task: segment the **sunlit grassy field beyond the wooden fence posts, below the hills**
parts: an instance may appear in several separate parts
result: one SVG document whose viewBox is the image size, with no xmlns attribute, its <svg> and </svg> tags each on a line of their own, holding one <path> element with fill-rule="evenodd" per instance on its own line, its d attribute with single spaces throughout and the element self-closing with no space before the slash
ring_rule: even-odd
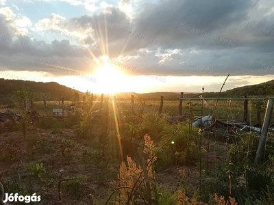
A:
<svg viewBox="0 0 274 205">
<path fill-rule="evenodd" d="M 145 102 L 145 105 L 143 106 L 145 108 L 145 111 L 151 111 L 153 113 L 156 113 L 159 110 L 160 107 L 160 100 L 143 100 Z M 189 115 L 189 100 L 183 101 L 183 115 Z M 203 105 L 203 115 L 212 114 L 212 110 L 214 108 L 214 102 L 207 100 L 206 103 Z M 71 104 L 71 101 L 64 101 L 64 107 L 67 107 L 69 104 Z M 111 103 L 111 100 L 110 100 Z M 117 98 L 116 100 L 118 111 L 122 111 L 124 109 L 131 109 L 131 100 L 123 100 L 122 98 Z M 202 102 L 201 100 L 192 100 L 192 103 L 197 103 L 197 106 L 195 106 L 195 111 L 193 115 L 201 115 L 201 108 L 202 108 Z M 162 109 L 162 113 L 169 113 L 171 116 L 179 115 L 179 100 L 164 100 L 164 107 Z M 47 109 L 44 109 L 44 105 L 42 101 L 35 102 L 34 104 L 35 109 L 41 114 L 41 115 L 52 115 L 52 109 L 54 108 L 61 108 L 61 105 L 59 105 L 58 101 L 48 101 L 47 102 Z M 138 101 L 138 99 L 135 99 L 135 106 L 134 109 L 140 109 L 142 107 L 141 102 Z M 94 100 L 92 110 L 96 110 L 100 108 L 100 100 Z M 256 124 L 256 110 L 252 109 L 251 103 L 249 102 L 248 106 L 248 119 L 252 124 Z M 0 111 L 3 111 L 3 109 L 0 109 Z M 243 100 L 232 100 L 232 102 L 229 102 L 227 100 L 219 100 L 217 108 L 216 108 L 216 118 L 219 119 L 227 119 L 227 120 L 243 120 Z M 263 120 L 264 113 L 261 113 L 261 119 Z M 272 116 L 272 120 L 274 121 L 274 115 Z"/>
</svg>

